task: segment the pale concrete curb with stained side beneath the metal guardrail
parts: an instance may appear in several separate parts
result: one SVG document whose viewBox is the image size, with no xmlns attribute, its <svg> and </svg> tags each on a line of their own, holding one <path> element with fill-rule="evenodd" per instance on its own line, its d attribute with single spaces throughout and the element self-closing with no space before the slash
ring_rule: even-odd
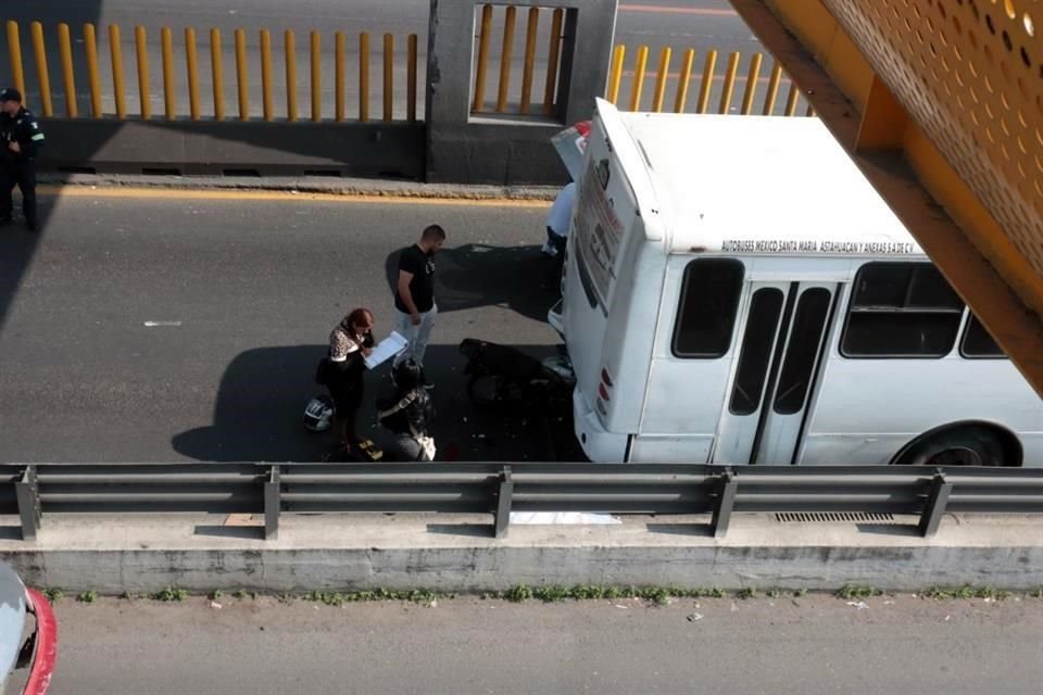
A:
<svg viewBox="0 0 1043 695">
<path fill-rule="evenodd" d="M 675 585 L 833 591 L 1043 586 L 1039 518 L 947 515 L 939 534 L 910 526 L 780 523 L 740 515 L 728 538 L 702 517 L 625 517 L 618 526 L 515 525 L 490 538 L 487 516 L 284 515 L 279 539 L 257 520 L 138 515 L 52 516 L 34 543 L 0 540 L 30 584 L 67 592 L 503 591 L 518 584 Z"/>
</svg>

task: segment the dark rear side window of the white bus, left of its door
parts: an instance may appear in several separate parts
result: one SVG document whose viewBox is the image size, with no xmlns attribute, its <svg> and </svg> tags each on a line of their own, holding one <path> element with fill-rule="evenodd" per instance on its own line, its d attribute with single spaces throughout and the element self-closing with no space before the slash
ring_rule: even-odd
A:
<svg viewBox="0 0 1043 695">
<path fill-rule="evenodd" d="M 731 346 L 744 268 L 734 258 L 700 258 L 684 268 L 674 327 L 675 357 L 722 357 Z"/>
</svg>

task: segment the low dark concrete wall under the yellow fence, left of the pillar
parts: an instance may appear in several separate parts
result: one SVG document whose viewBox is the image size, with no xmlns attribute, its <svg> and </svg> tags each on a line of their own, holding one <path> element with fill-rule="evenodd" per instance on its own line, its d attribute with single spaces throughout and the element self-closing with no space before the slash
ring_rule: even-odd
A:
<svg viewBox="0 0 1043 695">
<path fill-rule="evenodd" d="M 424 179 L 424 124 L 48 119 L 42 170 Z"/>
</svg>

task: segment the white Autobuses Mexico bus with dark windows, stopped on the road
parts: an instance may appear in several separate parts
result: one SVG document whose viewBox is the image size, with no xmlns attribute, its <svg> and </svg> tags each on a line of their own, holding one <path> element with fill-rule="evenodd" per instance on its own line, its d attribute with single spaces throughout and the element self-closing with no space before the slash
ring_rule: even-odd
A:
<svg viewBox="0 0 1043 695">
<path fill-rule="evenodd" d="M 595 462 L 1043 463 L 1043 401 L 817 118 L 598 101 L 549 315 Z"/>
</svg>

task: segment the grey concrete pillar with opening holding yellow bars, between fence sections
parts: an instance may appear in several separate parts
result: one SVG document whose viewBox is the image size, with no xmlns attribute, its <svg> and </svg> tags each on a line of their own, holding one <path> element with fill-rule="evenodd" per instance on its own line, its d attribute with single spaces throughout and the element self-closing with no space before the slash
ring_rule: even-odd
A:
<svg viewBox="0 0 1043 695">
<path fill-rule="evenodd" d="M 548 140 L 562 127 L 589 118 L 594 98 L 604 94 L 617 0 L 512 0 L 519 17 L 528 7 L 566 9 L 558 112 L 550 118 L 470 115 L 475 8 L 481 4 L 431 0 L 427 178 L 457 184 L 564 182 L 567 174 Z"/>
</svg>

